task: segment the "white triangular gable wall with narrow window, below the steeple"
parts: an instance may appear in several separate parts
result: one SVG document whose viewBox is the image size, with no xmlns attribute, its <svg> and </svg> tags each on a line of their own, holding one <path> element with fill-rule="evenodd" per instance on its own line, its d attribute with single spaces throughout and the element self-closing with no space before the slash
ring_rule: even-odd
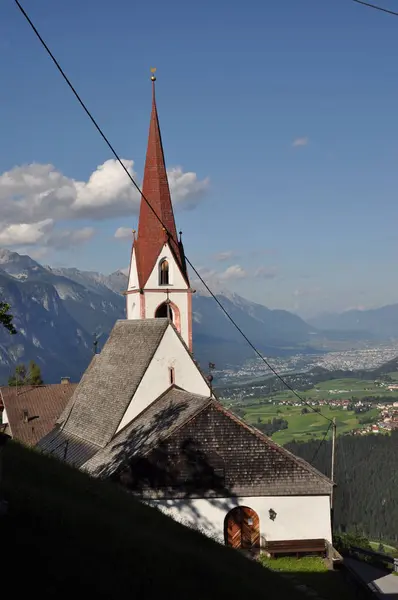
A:
<svg viewBox="0 0 398 600">
<path fill-rule="evenodd" d="M 170 387 L 170 367 L 174 368 L 176 385 L 194 394 L 210 395 L 207 382 L 182 345 L 173 327 L 169 325 L 117 431 L 128 425 L 132 419 Z"/>
</svg>

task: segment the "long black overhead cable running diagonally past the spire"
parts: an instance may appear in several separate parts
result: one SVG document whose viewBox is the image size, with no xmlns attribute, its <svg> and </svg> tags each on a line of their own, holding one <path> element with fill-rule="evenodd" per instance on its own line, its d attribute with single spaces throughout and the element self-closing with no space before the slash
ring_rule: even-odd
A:
<svg viewBox="0 0 398 600">
<path fill-rule="evenodd" d="M 104 134 L 104 132 L 102 131 L 101 127 L 98 125 L 97 121 L 95 120 L 95 118 L 93 117 L 93 115 L 91 114 L 91 112 L 89 111 L 89 109 L 87 108 L 86 104 L 83 102 L 83 100 L 79 96 L 79 94 L 76 91 L 75 87 L 71 83 L 71 81 L 68 78 L 68 76 L 66 75 L 65 71 L 62 69 L 61 65 L 59 64 L 59 62 L 55 58 L 54 54 L 51 52 L 50 48 L 48 47 L 48 45 L 44 41 L 43 37 L 40 35 L 39 31 L 37 30 L 36 26 L 32 22 L 32 20 L 29 17 L 29 15 L 27 14 L 26 10 L 23 8 L 23 6 L 19 2 L 19 0 L 15 0 L 15 4 L 18 6 L 19 10 L 21 11 L 21 13 L 23 14 L 23 16 L 25 17 L 25 19 L 29 23 L 29 25 L 32 28 L 32 30 L 34 31 L 36 37 L 38 38 L 38 40 L 42 44 L 43 48 L 46 50 L 47 54 L 50 56 L 51 60 L 53 61 L 53 63 L 57 67 L 58 71 L 62 75 L 63 79 L 65 80 L 66 84 L 68 85 L 68 87 L 72 91 L 72 93 L 75 96 L 75 98 L 77 99 L 77 101 L 79 102 L 80 106 L 83 108 L 84 112 L 86 113 L 86 115 L 88 116 L 88 118 L 90 119 L 90 121 L 92 122 L 92 124 L 94 125 L 95 129 L 98 131 L 98 133 L 100 134 L 100 136 L 104 140 L 105 144 L 108 146 L 109 150 L 112 152 L 113 156 L 115 157 L 115 159 L 117 160 L 117 162 L 120 164 L 120 166 L 122 167 L 123 171 L 126 173 L 127 177 L 130 179 L 131 183 L 134 185 L 134 187 L 136 188 L 136 190 L 141 195 L 142 200 L 144 200 L 144 202 L 148 205 L 149 209 L 153 212 L 153 214 L 155 215 L 156 219 L 159 221 L 159 223 L 165 229 L 165 231 L 168 234 L 169 238 L 172 239 L 176 244 L 178 244 L 178 240 L 174 239 L 172 233 L 164 225 L 162 219 L 159 217 L 159 215 L 157 214 L 157 212 L 155 211 L 155 209 L 153 208 L 153 206 L 151 205 L 151 203 L 149 202 L 149 200 L 142 193 L 142 191 L 140 189 L 140 186 L 135 181 L 134 177 L 131 175 L 131 173 L 129 172 L 129 170 L 123 164 L 123 162 L 120 159 L 118 153 L 116 152 L 116 150 L 114 149 L 114 147 L 112 146 L 112 144 L 110 143 L 110 141 L 108 140 L 108 138 L 106 137 L 106 135 Z M 226 310 L 226 308 L 224 308 L 224 306 L 222 305 L 222 303 L 219 301 L 219 299 L 217 298 L 217 296 L 211 291 L 210 287 L 204 281 L 203 277 L 200 275 L 200 273 L 197 271 L 197 269 L 194 267 L 194 265 L 191 263 L 191 261 L 188 259 L 188 257 L 185 257 L 185 260 L 186 260 L 187 264 L 191 267 L 191 269 L 193 270 L 193 272 L 195 273 L 195 275 L 198 277 L 199 281 L 202 283 L 202 285 L 205 287 L 205 289 L 209 292 L 210 296 L 218 304 L 219 308 L 222 310 L 222 312 L 225 314 L 225 316 L 228 318 L 228 320 L 232 323 L 232 325 L 240 333 L 240 335 L 247 342 L 247 344 L 250 346 L 250 348 L 255 352 L 255 354 L 257 354 L 257 356 L 264 362 L 264 364 L 268 367 L 268 369 L 271 371 L 271 373 L 273 373 L 275 375 L 275 377 L 277 377 L 277 379 L 281 383 L 283 383 L 283 385 L 288 390 L 290 390 L 292 392 L 292 394 L 294 394 L 296 396 L 296 398 L 298 400 L 300 400 L 300 402 L 302 404 L 305 404 L 312 411 L 316 412 L 317 414 L 320 414 L 327 421 L 332 422 L 332 420 L 329 419 L 329 417 L 326 417 L 322 413 L 318 413 L 318 411 L 316 411 L 316 409 L 311 404 L 309 404 L 306 400 L 304 400 L 304 398 L 302 398 L 300 396 L 300 394 L 298 392 L 296 392 L 296 390 L 281 375 L 279 375 L 279 373 L 276 371 L 276 369 L 268 362 L 268 360 L 261 354 L 261 352 L 256 348 L 256 346 L 250 341 L 250 339 L 247 337 L 247 335 L 244 333 L 244 331 L 239 327 L 239 325 L 236 323 L 236 321 L 233 319 L 233 317 L 231 317 L 231 315 Z"/>
</svg>

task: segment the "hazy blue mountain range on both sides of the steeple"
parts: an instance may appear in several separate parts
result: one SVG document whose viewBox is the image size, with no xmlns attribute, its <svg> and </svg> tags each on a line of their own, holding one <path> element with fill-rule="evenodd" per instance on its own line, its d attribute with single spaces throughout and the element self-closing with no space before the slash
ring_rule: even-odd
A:
<svg viewBox="0 0 398 600">
<path fill-rule="evenodd" d="M 101 348 L 115 321 L 125 318 L 121 292 L 126 286 L 122 271 L 103 275 L 53 268 L 29 256 L 0 250 L 1 299 L 11 305 L 18 331 L 11 336 L 0 329 L 0 383 L 16 364 L 31 359 L 39 363 L 46 382 L 64 376 L 78 380 L 91 359 L 94 336 Z M 307 323 L 293 313 L 271 310 L 228 290 L 215 288 L 214 292 L 245 335 L 267 356 L 313 352 L 318 342 L 324 349 L 325 338 L 398 338 L 398 305 L 325 315 Z M 220 369 L 236 367 L 255 357 L 214 299 L 199 286 L 193 296 L 193 344 L 195 358 L 203 367 L 209 361 Z"/>
</svg>

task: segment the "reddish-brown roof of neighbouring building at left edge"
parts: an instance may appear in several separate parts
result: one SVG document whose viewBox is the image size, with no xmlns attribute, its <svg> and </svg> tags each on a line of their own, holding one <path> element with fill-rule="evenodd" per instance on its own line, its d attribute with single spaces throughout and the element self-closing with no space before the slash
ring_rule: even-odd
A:
<svg viewBox="0 0 398 600">
<path fill-rule="evenodd" d="M 57 383 L 0 388 L 8 419 L 7 432 L 23 444 L 35 445 L 53 429 L 76 386 Z"/>
</svg>

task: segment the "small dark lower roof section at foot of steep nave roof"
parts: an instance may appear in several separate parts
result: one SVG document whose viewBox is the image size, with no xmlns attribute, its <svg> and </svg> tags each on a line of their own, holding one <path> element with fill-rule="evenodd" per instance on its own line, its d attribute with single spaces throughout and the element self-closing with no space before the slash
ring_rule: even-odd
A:
<svg viewBox="0 0 398 600">
<path fill-rule="evenodd" d="M 80 468 L 100 450 L 99 446 L 65 433 L 59 428 L 50 431 L 36 447 L 76 468 Z"/>
</svg>

